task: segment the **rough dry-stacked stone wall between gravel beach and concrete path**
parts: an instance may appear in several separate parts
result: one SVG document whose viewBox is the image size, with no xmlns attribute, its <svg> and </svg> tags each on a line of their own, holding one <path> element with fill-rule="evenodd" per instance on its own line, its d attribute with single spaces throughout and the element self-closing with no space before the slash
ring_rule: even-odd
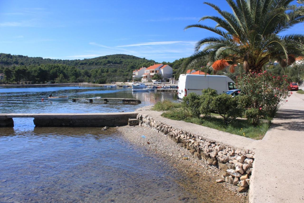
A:
<svg viewBox="0 0 304 203">
<path fill-rule="evenodd" d="M 249 189 L 255 158 L 254 151 L 233 148 L 227 144 L 206 139 L 199 134 L 173 127 L 140 112 L 137 119 L 140 126 L 163 133 L 179 146 L 188 149 L 197 159 L 221 169 L 223 171 L 221 179 L 216 180 L 216 182 L 237 185 L 239 192 L 246 192 Z"/>
</svg>

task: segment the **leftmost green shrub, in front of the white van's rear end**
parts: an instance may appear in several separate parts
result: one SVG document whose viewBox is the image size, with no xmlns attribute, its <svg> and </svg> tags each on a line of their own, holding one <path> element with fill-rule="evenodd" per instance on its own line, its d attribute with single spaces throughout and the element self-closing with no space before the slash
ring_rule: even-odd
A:
<svg viewBox="0 0 304 203">
<path fill-rule="evenodd" d="M 183 98 L 182 108 L 188 111 L 193 117 L 199 118 L 201 115 L 200 106 L 201 97 L 194 92 L 189 93 Z"/>
</svg>

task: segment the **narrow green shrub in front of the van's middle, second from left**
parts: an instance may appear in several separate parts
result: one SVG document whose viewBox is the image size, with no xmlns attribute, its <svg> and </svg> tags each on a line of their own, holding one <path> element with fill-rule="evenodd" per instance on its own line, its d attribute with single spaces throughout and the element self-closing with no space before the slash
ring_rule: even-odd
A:
<svg viewBox="0 0 304 203">
<path fill-rule="evenodd" d="M 202 90 L 202 96 L 201 96 L 201 106 L 199 108 L 200 113 L 206 117 L 209 116 L 209 119 L 211 118 L 211 112 L 213 111 L 211 108 L 211 102 L 214 99 L 214 97 L 217 95 L 217 91 L 211 88 Z"/>
</svg>

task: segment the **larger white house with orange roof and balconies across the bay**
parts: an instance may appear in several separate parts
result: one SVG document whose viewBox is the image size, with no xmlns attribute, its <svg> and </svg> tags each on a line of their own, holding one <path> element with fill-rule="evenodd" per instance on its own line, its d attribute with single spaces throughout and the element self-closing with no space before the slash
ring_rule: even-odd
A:
<svg viewBox="0 0 304 203">
<path fill-rule="evenodd" d="M 172 73 L 173 69 L 169 65 L 154 64 L 145 69 L 145 73 L 141 76 L 141 81 L 147 82 L 154 74 L 160 74 L 163 80 L 167 80 L 168 78 L 171 78 Z"/>
</svg>

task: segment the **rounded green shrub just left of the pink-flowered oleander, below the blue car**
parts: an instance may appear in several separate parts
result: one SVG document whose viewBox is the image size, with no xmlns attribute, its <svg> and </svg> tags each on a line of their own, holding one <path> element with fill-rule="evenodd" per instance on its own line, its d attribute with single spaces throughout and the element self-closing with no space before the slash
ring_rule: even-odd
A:
<svg viewBox="0 0 304 203">
<path fill-rule="evenodd" d="M 238 105 L 237 98 L 228 94 L 217 95 L 210 106 L 223 117 L 226 124 L 242 115 L 242 108 Z"/>
</svg>

